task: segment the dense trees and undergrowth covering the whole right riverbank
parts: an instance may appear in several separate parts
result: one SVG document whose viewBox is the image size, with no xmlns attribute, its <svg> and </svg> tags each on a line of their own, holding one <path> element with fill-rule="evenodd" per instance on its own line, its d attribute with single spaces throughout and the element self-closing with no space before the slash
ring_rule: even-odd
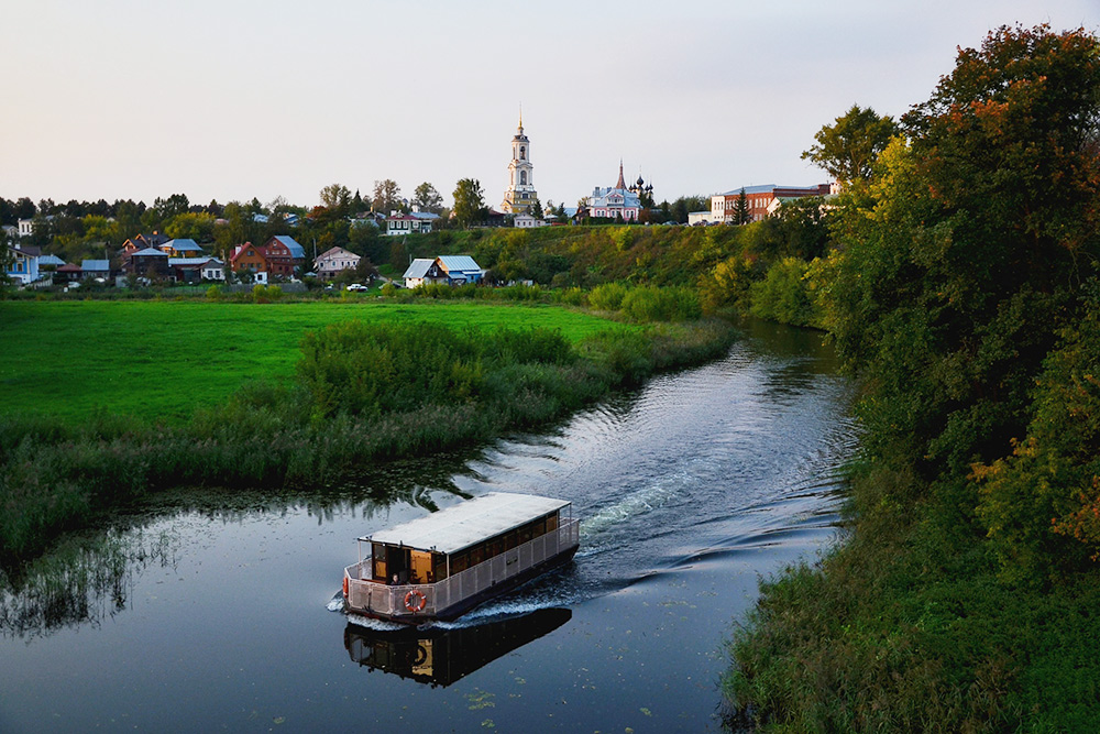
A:
<svg viewBox="0 0 1100 734">
<path fill-rule="evenodd" d="M 849 532 L 761 584 L 726 725 L 1100 731 L 1100 41 L 1002 28 L 865 112 L 810 152 L 849 176 L 806 275 L 860 380 Z"/>
</svg>

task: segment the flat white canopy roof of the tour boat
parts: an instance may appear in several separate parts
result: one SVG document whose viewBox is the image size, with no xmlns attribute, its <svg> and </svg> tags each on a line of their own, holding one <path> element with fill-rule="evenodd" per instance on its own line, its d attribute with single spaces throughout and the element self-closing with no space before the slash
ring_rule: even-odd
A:
<svg viewBox="0 0 1100 734">
<path fill-rule="evenodd" d="M 536 494 L 490 492 L 360 540 L 453 554 L 569 505 Z"/>
</svg>

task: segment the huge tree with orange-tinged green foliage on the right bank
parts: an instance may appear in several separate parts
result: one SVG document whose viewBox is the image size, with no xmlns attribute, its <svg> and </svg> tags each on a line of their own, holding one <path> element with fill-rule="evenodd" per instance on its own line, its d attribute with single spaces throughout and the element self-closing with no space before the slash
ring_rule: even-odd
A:
<svg viewBox="0 0 1100 734">
<path fill-rule="evenodd" d="M 1050 552 L 1053 534 L 1076 534 L 1072 503 L 1097 501 L 1060 479 L 1079 472 L 1041 465 L 1025 442 L 1066 459 L 1036 421 L 1063 399 L 1048 375 L 1059 342 L 1070 364 L 1091 359 L 1075 350 L 1096 353 L 1080 329 L 1096 322 L 1085 316 L 1100 287 L 1098 120 L 1100 41 L 1045 25 L 990 33 L 902 118 L 908 140 L 879 154 L 871 206 L 850 196 L 829 213 L 843 247 L 811 276 L 838 353 L 873 385 L 866 447 L 954 483 L 1002 563 L 1032 579 L 1074 556 Z"/>
</svg>

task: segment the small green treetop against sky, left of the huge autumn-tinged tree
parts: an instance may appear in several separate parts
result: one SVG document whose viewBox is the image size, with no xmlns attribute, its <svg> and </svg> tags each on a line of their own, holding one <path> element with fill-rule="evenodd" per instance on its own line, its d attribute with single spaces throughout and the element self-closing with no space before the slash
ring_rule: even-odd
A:
<svg viewBox="0 0 1100 734">
<path fill-rule="evenodd" d="M 853 105 L 834 124 L 825 125 L 814 135 L 817 144 L 804 151 L 802 160 L 813 161 L 840 184 L 866 182 L 879 153 L 895 134 L 898 124 L 893 118 Z"/>
</svg>

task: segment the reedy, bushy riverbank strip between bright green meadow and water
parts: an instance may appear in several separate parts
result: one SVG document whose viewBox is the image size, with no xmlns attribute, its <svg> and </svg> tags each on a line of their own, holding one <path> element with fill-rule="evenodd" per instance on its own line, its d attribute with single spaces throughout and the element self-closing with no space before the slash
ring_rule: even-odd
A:
<svg viewBox="0 0 1100 734">
<path fill-rule="evenodd" d="M 55 306 L 79 314 L 81 305 Z M 128 304 L 90 307 L 101 306 L 110 311 Z M 328 305 L 307 314 L 296 310 L 305 306 L 310 305 L 253 311 L 241 306 L 231 316 L 280 320 L 284 330 L 289 324 L 300 329 L 301 319 L 318 314 L 339 320 L 324 311 Z M 207 317 L 223 307 L 193 306 Z M 0 418 L 3 559 L 38 552 L 58 534 L 164 487 L 309 490 L 344 481 L 380 460 L 425 456 L 540 425 L 661 370 L 712 359 L 734 338 L 733 327 L 723 321 L 624 328 L 560 308 L 459 304 L 343 315 L 364 313 L 386 318 L 330 324 L 305 339 L 301 352 L 284 346 L 284 362 L 288 353 L 301 355 L 295 380 L 280 381 L 276 372 L 246 382 L 228 403 L 176 425 L 144 424 L 111 412 L 80 425 L 25 414 Z M 505 327 L 505 313 L 524 318 Z M 517 322 L 527 328 L 515 328 Z M 572 338 L 562 324 L 571 327 Z M 117 351 L 125 352 L 128 343 L 131 353 L 142 349 L 146 330 L 129 333 L 129 340 L 116 342 Z M 194 336 L 172 340 L 177 351 L 188 350 L 193 364 L 224 348 L 218 340 L 201 340 L 201 332 Z M 142 358 L 143 370 L 156 369 L 150 360 L 154 355 Z M 187 393 L 187 375 L 175 374 L 172 361 L 157 365 L 162 381 L 178 382 L 176 390 Z M 144 382 L 132 380 L 128 387 L 140 392 Z"/>
</svg>

